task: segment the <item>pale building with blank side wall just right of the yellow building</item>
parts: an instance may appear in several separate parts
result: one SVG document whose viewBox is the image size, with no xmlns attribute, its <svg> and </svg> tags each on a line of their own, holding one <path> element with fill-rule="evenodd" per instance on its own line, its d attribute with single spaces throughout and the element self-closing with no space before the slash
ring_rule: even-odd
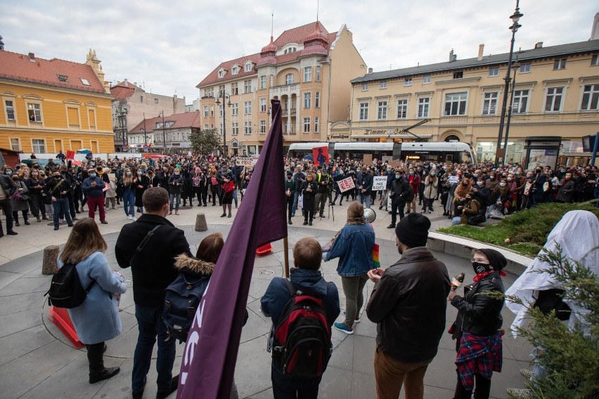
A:
<svg viewBox="0 0 599 399">
<path fill-rule="evenodd" d="M 157 115 L 182 114 L 186 112 L 185 97 L 162 96 L 146 93 L 144 89 L 127 79 L 110 88 L 114 96 L 112 100 L 112 131 L 115 132 L 115 151 L 121 152 L 129 148 L 130 140 L 127 132 L 143 118 Z M 136 143 L 134 141 L 133 143 Z"/>
</svg>

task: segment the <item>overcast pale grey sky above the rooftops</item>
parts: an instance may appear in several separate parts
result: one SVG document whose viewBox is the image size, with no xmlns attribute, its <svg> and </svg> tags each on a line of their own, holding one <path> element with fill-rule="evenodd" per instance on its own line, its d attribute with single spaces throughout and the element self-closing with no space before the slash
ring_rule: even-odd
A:
<svg viewBox="0 0 599 399">
<path fill-rule="evenodd" d="M 85 62 L 89 48 L 106 79 L 198 98 L 195 86 L 222 61 L 258 53 L 274 37 L 316 20 L 316 0 L 0 0 L 5 50 Z M 594 6 L 593 6 L 594 4 Z M 329 32 L 345 24 L 375 71 L 507 53 L 515 0 L 321 0 Z M 593 0 L 522 0 L 515 48 L 586 41 Z M 1 68 L 1 65 L 0 65 Z"/>
</svg>

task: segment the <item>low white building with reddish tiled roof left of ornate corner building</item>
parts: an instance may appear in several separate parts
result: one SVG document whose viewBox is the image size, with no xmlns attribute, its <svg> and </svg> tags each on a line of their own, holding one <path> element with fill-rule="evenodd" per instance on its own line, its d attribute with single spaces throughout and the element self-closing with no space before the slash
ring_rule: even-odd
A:
<svg viewBox="0 0 599 399">
<path fill-rule="evenodd" d="M 129 131 L 129 149 L 131 152 L 186 154 L 191 151 L 189 135 L 195 129 L 200 129 L 198 111 L 148 118 Z"/>
</svg>

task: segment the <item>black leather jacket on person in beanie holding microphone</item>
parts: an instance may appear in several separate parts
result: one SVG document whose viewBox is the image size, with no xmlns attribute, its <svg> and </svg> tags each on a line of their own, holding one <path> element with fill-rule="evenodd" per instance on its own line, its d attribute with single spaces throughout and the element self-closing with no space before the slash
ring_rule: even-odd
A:
<svg viewBox="0 0 599 399">
<path fill-rule="evenodd" d="M 484 291 L 497 291 L 502 294 L 505 292 L 499 272 L 491 273 L 479 282 L 468 284 L 464 287 L 463 298 L 459 295 L 453 297 L 451 305 L 458 309 L 458 317 L 453 323 L 454 336 L 460 331 L 489 336 L 501 328 L 503 323 L 501 309 L 505 300 L 479 294 Z"/>
</svg>

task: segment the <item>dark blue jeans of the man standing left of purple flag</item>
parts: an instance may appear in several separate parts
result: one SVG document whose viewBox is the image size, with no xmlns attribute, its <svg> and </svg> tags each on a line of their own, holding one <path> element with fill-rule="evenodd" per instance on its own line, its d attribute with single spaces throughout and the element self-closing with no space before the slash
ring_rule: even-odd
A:
<svg viewBox="0 0 599 399">
<path fill-rule="evenodd" d="M 133 391 L 141 391 L 146 386 L 146 376 L 150 371 L 152 362 L 152 351 L 158 336 L 158 354 L 156 358 L 156 371 L 158 378 L 158 392 L 169 390 L 172 380 L 172 371 L 175 358 L 176 339 L 167 339 L 167 327 L 162 322 L 162 308 L 146 308 L 135 306 L 135 318 L 139 336 L 133 355 L 133 372 L 131 373 L 131 388 Z"/>
</svg>

